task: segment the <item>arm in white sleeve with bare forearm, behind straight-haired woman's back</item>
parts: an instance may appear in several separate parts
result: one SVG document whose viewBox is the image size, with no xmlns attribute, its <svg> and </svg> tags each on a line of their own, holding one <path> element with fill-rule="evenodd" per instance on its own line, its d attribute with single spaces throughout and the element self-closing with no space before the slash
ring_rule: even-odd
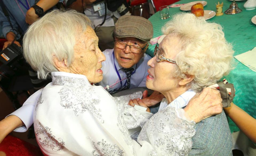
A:
<svg viewBox="0 0 256 156">
<path fill-rule="evenodd" d="M 24 102 L 21 108 L 0 121 L 0 143 L 11 131 L 25 132 L 33 124 L 34 107 L 42 90 L 35 92 Z"/>
</svg>

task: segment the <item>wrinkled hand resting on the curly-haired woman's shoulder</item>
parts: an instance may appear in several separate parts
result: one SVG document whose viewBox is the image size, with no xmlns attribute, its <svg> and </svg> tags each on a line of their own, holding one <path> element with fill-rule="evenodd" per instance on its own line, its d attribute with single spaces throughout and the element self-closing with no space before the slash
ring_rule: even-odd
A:
<svg viewBox="0 0 256 156">
<path fill-rule="evenodd" d="M 205 88 L 196 94 L 184 108 L 186 115 L 196 123 L 222 112 L 222 99 L 217 89 Z"/>
</svg>

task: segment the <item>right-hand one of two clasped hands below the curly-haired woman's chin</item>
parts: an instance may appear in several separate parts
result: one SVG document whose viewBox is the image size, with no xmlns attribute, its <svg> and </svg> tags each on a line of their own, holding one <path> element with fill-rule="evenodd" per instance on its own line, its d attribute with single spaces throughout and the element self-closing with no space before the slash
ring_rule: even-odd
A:
<svg viewBox="0 0 256 156">
<path fill-rule="evenodd" d="M 147 106 L 155 106 L 157 103 L 161 102 L 163 99 L 163 94 L 158 91 L 154 91 L 149 97 L 147 97 L 147 90 L 143 92 L 142 102 Z"/>
</svg>

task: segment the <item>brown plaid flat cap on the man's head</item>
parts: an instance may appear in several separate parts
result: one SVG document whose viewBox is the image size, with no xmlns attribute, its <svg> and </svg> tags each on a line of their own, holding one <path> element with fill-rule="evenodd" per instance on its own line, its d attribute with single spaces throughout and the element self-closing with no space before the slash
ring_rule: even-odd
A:
<svg viewBox="0 0 256 156">
<path fill-rule="evenodd" d="M 148 42 L 153 37 L 153 26 L 146 18 L 123 15 L 115 23 L 115 36 L 134 37 Z"/>
</svg>

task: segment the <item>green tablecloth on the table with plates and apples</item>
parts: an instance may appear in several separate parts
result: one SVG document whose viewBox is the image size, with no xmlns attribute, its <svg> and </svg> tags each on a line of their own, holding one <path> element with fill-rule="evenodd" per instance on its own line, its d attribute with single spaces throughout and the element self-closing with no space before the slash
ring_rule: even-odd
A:
<svg viewBox="0 0 256 156">
<path fill-rule="evenodd" d="M 182 0 L 176 4 L 188 2 L 192 1 Z M 221 3 L 222 1 L 219 2 Z M 223 12 L 229 8 L 231 2 L 232 1 L 229 0 L 223 0 Z M 209 21 L 219 23 L 223 26 L 227 41 L 231 42 L 234 46 L 234 56 L 249 51 L 256 46 L 256 25 L 251 22 L 251 18 L 256 15 L 256 9 L 246 10 L 243 7 L 245 2 L 246 1 L 237 1 L 239 8 L 243 10 L 242 13 L 235 15 L 223 14 L 222 16 L 215 16 L 209 19 Z M 218 3 L 218 0 L 208 0 L 204 9 L 216 11 L 215 3 Z M 172 16 L 181 10 L 179 7 L 176 7 L 170 8 L 169 11 L 170 16 Z M 154 37 L 162 35 L 161 27 L 169 19 L 160 19 L 159 11 L 149 18 L 149 21 L 151 21 L 153 25 Z M 155 45 L 150 45 L 147 49 L 147 54 L 153 56 L 154 47 Z M 235 60 L 235 63 L 235 69 L 225 77 L 229 83 L 233 83 L 235 86 L 236 95 L 233 102 L 249 113 L 252 117 L 256 118 L 256 72 L 251 71 L 248 67 L 237 60 Z M 232 133 L 234 131 L 239 131 L 239 128 L 230 118 L 228 118 L 228 122 Z"/>
</svg>

